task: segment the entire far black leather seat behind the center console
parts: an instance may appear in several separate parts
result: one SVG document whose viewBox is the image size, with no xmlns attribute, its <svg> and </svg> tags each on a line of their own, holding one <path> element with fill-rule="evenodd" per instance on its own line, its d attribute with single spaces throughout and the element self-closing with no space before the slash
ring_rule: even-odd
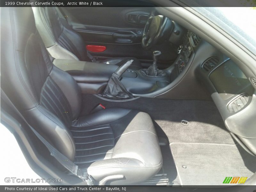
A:
<svg viewBox="0 0 256 192">
<path fill-rule="evenodd" d="M 53 58 L 86 61 L 84 40 L 70 27 L 58 7 L 33 7 L 33 12 L 37 30 Z M 129 59 L 134 60 L 131 69 L 142 68 L 136 58 L 110 58 L 102 63 L 121 66 Z"/>
</svg>

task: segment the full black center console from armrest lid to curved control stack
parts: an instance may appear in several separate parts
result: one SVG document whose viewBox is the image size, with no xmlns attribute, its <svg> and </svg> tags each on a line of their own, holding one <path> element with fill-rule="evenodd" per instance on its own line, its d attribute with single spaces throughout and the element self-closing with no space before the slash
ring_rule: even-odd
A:
<svg viewBox="0 0 256 192">
<path fill-rule="evenodd" d="M 184 36 L 183 44 L 178 48 L 178 57 L 169 68 L 164 70 L 157 68 L 157 58 L 161 52 L 154 51 L 154 61 L 148 69 L 131 70 L 127 67 L 122 70 L 122 74 L 116 77 L 118 80 L 115 80 L 113 76 L 115 76 L 114 74 L 118 71 L 118 68 L 122 67 L 116 65 L 62 59 L 53 60 L 53 64 L 73 76 L 82 93 L 97 94 L 102 97 L 108 95 L 107 99 L 118 99 L 115 96 L 111 98 L 111 94 L 104 94 L 109 87 L 111 90 L 116 89 L 117 92 L 119 92 L 118 90 L 127 91 L 132 98 L 154 97 L 157 94 L 171 90 L 188 70 L 193 59 L 193 48 L 195 48 L 193 46 L 195 42 L 191 40 L 191 35 L 193 34 L 188 32 Z M 112 81 L 112 84 L 110 81 Z M 117 82 L 119 85 L 116 86 L 113 82 Z"/>
</svg>

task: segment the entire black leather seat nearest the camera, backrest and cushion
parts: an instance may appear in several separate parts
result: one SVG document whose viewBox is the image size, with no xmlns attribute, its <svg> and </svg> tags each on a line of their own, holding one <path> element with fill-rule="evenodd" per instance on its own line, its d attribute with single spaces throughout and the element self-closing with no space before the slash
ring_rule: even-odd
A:
<svg viewBox="0 0 256 192">
<path fill-rule="evenodd" d="M 36 31 L 31 7 L 1 8 L 1 87 L 46 140 L 100 181 L 137 184 L 155 175 L 162 155 L 146 113 L 108 108 L 80 116 L 81 92 L 55 67 Z M 78 118 L 78 119 L 77 119 Z"/>
</svg>

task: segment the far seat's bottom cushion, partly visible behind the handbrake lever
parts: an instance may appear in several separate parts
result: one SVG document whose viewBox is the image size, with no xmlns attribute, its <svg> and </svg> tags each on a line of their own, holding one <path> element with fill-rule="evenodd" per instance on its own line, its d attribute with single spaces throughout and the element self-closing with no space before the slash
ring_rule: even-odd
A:
<svg viewBox="0 0 256 192">
<path fill-rule="evenodd" d="M 142 69 L 140 60 L 134 58 L 134 57 L 115 57 L 115 58 L 109 58 L 106 60 L 103 60 L 102 63 L 111 64 L 111 65 L 117 65 L 122 66 L 127 60 L 133 60 L 132 65 L 129 67 L 129 69 L 132 70 L 139 70 Z"/>
</svg>

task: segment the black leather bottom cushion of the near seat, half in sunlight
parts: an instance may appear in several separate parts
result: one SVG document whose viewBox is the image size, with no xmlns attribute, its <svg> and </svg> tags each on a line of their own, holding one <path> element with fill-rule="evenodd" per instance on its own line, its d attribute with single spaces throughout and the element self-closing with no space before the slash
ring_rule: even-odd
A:
<svg viewBox="0 0 256 192">
<path fill-rule="evenodd" d="M 111 184 L 138 184 L 161 169 L 162 155 L 147 113 L 104 109 L 80 117 L 73 122 L 71 132 L 76 144 L 75 163 L 95 180 L 124 175 L 125 180 Z"/>
</svg>

